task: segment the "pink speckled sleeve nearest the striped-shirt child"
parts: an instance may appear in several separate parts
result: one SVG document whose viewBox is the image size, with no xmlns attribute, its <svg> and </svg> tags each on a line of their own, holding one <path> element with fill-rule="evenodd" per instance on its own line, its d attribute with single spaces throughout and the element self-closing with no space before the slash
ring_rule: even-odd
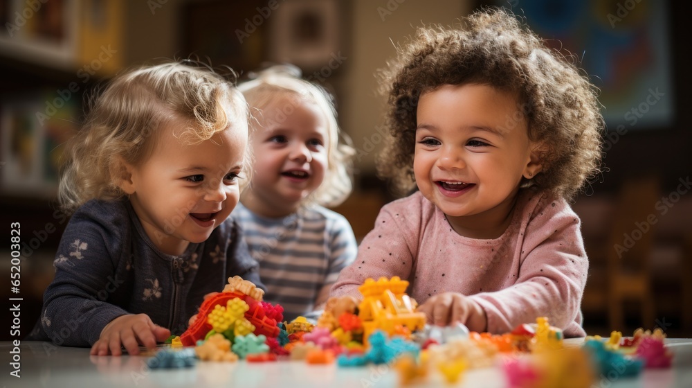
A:
<svg viewBox="0 0 692 388">
<path fill-rule="evenodd" d="M 331 288 L 331 297 L 350 295 L 361 299 L 358 287 L 365 279 L 399 276 L 408 280 L 417 256 L 419 222 L 406 215 L 419 215 L 417 209 L 405 209 L 404 203 L 385 205 L 375 221 L 375 227 L 367 233 L 358 247 L 354 263 L 345 267 Z M 406 211 L 406 212 L 405 212 Z"/>
</svg>

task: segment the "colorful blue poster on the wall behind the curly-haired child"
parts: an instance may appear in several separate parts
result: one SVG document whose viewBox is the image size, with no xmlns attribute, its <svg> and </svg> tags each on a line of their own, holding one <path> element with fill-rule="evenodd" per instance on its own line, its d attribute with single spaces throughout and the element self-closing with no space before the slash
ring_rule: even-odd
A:
<svg viewBox="0 0 692 388">
<path fill-rule="evenodd" d="M 548 46 L 574 55 L 599 87 L 608 130 L 669 128 L 675 120 L 666 1 L 495 1 Z"/>
</svg>

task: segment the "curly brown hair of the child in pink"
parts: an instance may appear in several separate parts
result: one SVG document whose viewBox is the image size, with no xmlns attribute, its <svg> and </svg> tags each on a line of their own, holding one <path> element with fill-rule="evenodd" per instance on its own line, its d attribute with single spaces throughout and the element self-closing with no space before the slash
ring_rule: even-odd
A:
<svg viewBox="0 0 692 388">
<path fill-rule="evenodd" d="M 466 29 L 423 27 L 379 73 L 388 95 L 385 148 L 378 172 L 401 193 L 415 184 L 413 157 L 421 94 L 442 85 L 482 84 L 518 96 L 531 141 L 543 143 L 543 170 L 522 187 L 571 199 L 600 172 L 603 117 L 598 89 L 559 51 L 547 48 L 506 10 L 466 18 Z M 573 59 L 573 58 L 572 58 Z M 516 119 L 516 118 L 514 118 Z"/>
</svg>

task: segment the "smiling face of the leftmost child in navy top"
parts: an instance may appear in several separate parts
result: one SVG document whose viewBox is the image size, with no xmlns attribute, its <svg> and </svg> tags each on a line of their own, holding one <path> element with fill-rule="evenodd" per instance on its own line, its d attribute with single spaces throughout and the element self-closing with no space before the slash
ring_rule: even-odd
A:
<svg viewBox="0 0 692 388">
<path fill-rule="evenodd" d="M 190 242 L 203 242 L 238 203 L 248 143 L 247 123 L 239 121 L 193 144 L 182 141 L 181 128 L 165 125 L 152 139 L 152 155 L 127 167 L 121 187 L 162 252 L 179 255 Z"/>
</svg>

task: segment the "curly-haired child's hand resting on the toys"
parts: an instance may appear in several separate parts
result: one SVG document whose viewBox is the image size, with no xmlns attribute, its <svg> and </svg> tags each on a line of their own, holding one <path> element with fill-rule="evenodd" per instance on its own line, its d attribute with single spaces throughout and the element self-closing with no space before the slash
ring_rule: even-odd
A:
<svg viewBox="0 0 692 388">
<path fill-rule="evenodd" d="M 437 326 L 448 326 L 460 322 L 471 331 L 483 332 L 486 330 L 488 320 L 485 310 L 473 301 L 458 292 L 444 292 L 437 294 L 417 309 L 424 312 L 428 322 Z"/>
</svg>

